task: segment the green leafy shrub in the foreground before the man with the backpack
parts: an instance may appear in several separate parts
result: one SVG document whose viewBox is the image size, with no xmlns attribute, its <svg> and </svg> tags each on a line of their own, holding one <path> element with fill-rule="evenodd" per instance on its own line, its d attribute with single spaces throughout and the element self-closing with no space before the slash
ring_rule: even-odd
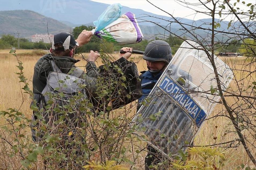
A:
<svg viewBox="0 0 256 170">
<path fill-rule="evenodd" d="M 10 53 L 16 56 L 15 50 Z M 41 51 L 38 51 L 39 54 Z M 109 62 L 105 55 L 102 57 L 106 63 Z M 24 84 L 22 89 L 33 99 L 33 93 L 24 76 L 23 63 L 18 58 L 17 61 L 19 72 L 16 74 Z M 110 166 L 111 169 L 124 169 L 125 167 L 119 165 L 122 163 L 132 165 L 133 162 L 126 158 L 128 149 L 124 144 L 127 136 L 131 137 L 131 119 L 127 116 L 129 112 L 121 109 L 118 114 L 114 114 L 110 112 L 111 106 L 107 106 L 111 102 L 111 90 L 121 82 L 114 78 L 102 82 L 101 77 L 97 81 L 100 87 L 96 92 L 98 99 L 104 101 L 101 103 L 101 110 L 92 111 L 90 98 L 85 99 L 85 95 L 78 92 L 68 100 L 68 105 L 55 104 L 55 101 L 63 97 L 62 93 L 50 96 L 45 108 L 39 109 L 35 104 L 31 105 L 31 110 L 38 118 L 35 121 L 27 118 L 19 109 L 1 111 L 0 116 L 5 123 L 1 126 L 0 143 L 5 146 L 8 157 L 16 157 L 27 169 L 82 169 L 87 161 L 94 160 L 106 168 Z M 46 122 L 43 113 L 54 113 L 59 117 Z M 70 114 L 76 115 L 72 121 L 69 119 Z M 35 129 L 41 134 L 41 140 L 37 143 L 31 139 L 30 124 L 37 125 Z M 105 160 L 112 161 L 104 164 Z"/>
</svg>

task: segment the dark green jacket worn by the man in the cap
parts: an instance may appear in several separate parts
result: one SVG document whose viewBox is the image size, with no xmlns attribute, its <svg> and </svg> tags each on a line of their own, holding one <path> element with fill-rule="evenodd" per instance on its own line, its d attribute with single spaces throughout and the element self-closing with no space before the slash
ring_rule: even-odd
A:
<svg viewBox="0 0 256 170">
<path fill-rule="evenodd" d="M 33 76 L 33 93 L 34 93 L 34 101 L 36 102 L 36 105 L 39 107 L 40 103 L 42 103 L 42 97 L 41 94 L 43 89 L 46 86 L 47 83 L 47 77 L 50 72 L 52 72 L 54 69 L 52 68 L 52 64 L 50 64 L 49 61 L 53 60 L 54 63 L 57 65 L 58 68 L 60 68 L 60 71 L 62 73 L 70 74 L 72 76 L 76 76 L 78 78 L 82 78 L 87 87 L 87 92 L 89 95 L 93 95 L 96 91 L 96 77 L 98 76 L 98 68 L 95 65 L 94 62 L 88 62 L 86 65 L 86 71 L 87 74 L 84 74 L 84 71 L 82 69 L 79 69 L 75 66 L 75 63 L 77 63 L 79 60 L 76 60 L 72 57 L 68 56 L 52 56 L 52 54 L 47 54 L 42 56 L 35 64 L 34 67 L 34 76 Z M 71 70 L 72 69 L 72 70 Z M 86 94 L 86 96 L 88 96 Z M 31 104 L 34 103 L 32 101 Z M 45 103 L 44 103 L 45 104 Z M 35 115 L 35 111 L 33 111 L 32 120 L 38 119 Z M 69 114 L 69 117 L 74 117 L 74 114 Z M 37 133 L 41 132 L 40 130 L 36 130 L 38 128 L 38 123 L 35 125 L 34 123 L 30 124 L 31 126 L 31 132 L 32 132 L 32 139 L 37 142 L 39 138 L 42 137 L 42 134 L 37 137 Z"/>
</svg>

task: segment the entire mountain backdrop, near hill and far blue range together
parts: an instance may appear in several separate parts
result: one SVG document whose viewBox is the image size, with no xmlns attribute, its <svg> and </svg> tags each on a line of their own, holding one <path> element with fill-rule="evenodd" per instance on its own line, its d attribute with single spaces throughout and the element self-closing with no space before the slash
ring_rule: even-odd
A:
<svg viewBox="0 0 256 170">
<path fill-rule="evenodd" d="M 72 32 L 72 28 L 80 25 L 93 25 L 100 14 L 108 7 L 108 4 L 94 1 L 66 0 L 66 1 L 28 1 L 12 0 L 0 1 L 0 34 L 13 34 L 19 32 L 21 37 L 30 37 L 36 33 L 48 32 Z M 135 14 L 138 24 L 145 38 L 162 34 L 169 36 L 170 30 L 177 35 L 183 35 L 181 26 L 174 23 L 174 19 L 167 16 L 160 16 L 141 9 L 132 9 L 123 6 L 122 13 L 132 12 Z M 184 24 L 211 28 L 211 19 L 189 20 L 176 18 Z M 219 20 L 215 20 L 218 22 Z M 154 24 L 156 23 L 156 24 Z M 218 30 L 227 31 L 229 21 L 222 21 Z M 235 24 L 235 23 L 233 23 Z M 160 26 L 159 26 L 160 25 Z M 161 26 L 163 28 L 161 28 Z M 191 29 L 191 26 L 186 26 Z M 195 31 L 196 32 L 196 31 Z M 198 31 L 200 36 L 207 36 L 209 31 Z M 161 37 L 161 36 L 160 36 Z M 163 36 L 162 36 L 163 37 Z"/>
</svg>

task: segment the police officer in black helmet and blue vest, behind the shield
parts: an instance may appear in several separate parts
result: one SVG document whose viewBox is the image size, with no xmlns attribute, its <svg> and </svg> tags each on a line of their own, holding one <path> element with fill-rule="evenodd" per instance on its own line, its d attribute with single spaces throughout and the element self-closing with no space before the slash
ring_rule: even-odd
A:
<svg viewBox="0 0 256 170">
<path fill-rule="evenodd" d="M 132 48 L 123 47 L 121 50 L 126 53 L 123 57 L 131 56 Z M 160 78 L 164 69 L 172 59 L 171 47 L 163 40 L 155 40 L 150 42 L 144 52 L 143 59 L 147 61 L 148 71 L 142 71 L 140 75 L 142 96 L 139 99 L 138 107 L 144 98 L 151 92 L 156 82 Z M 150 165 L 156 165 L 163 161 L 164 157 L 158 153 L 152 146 L 148 145 L 148 154 L 145 157 L 145 169 L 150 169 Z"/>
</svg>

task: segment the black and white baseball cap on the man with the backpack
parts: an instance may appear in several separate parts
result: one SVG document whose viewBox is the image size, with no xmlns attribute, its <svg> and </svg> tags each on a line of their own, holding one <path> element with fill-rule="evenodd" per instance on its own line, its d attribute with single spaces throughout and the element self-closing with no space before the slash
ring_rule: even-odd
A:
<svg viewBox="0 0 256 170">
<path fill-rule="evenodd" d="M 63 45 L 63 48 L 55 49 L 56 44 Z M 52 39 L 52 49 L 57 51 L 65 51 L 67 49 L 72 49 L 75 45 L 79 46 L 79 44 L 75 41 L 74 37 L 70 33 L 58 33 L 53 36 Z"/>
</svg>

